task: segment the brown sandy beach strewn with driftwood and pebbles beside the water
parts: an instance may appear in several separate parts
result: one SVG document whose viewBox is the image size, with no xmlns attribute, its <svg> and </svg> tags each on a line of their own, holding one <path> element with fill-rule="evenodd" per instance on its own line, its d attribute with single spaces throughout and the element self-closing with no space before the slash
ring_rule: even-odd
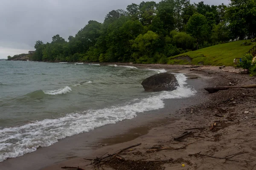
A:
<svg viewBox="0 0 256 170">
<path fill-rule="evenodd" d="M 255 84 L 255 77 L 236 74 L 239 69 L 232 67 L 133 66 L 184 73 L 191 78 L 187 82 L 195 87 L 197 94 L 188 99 L 167 99 L 163 109 L 62 139 L 50 147 L 7 159 L 0 167 L 5 170 L 61 170 L 64 166 L 79 166 L 84 170 L 256 169 L 256 90 L 230 88 L 214 94 L 204 90 Z M 189 134 L 174 140 L 184 133 Z M 96 159 L 138 143 L 141 144 L 102 160 L 96 167 L 84 159 Z"/>
</svg>

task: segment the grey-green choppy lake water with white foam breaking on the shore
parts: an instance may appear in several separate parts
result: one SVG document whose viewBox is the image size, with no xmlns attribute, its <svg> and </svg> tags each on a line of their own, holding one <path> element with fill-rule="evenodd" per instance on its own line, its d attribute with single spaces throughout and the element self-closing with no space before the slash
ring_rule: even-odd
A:
<svg viewBox="0 0 256 170">
<path fill-rule="evenodd" d="M 146 93 L 141 82 L 166 72 L 133 66 L 0 60 L 0 161 L 59 139 L 164 108 L 196 93 L 175 74 L 175 91 Z"/>
</svg>

